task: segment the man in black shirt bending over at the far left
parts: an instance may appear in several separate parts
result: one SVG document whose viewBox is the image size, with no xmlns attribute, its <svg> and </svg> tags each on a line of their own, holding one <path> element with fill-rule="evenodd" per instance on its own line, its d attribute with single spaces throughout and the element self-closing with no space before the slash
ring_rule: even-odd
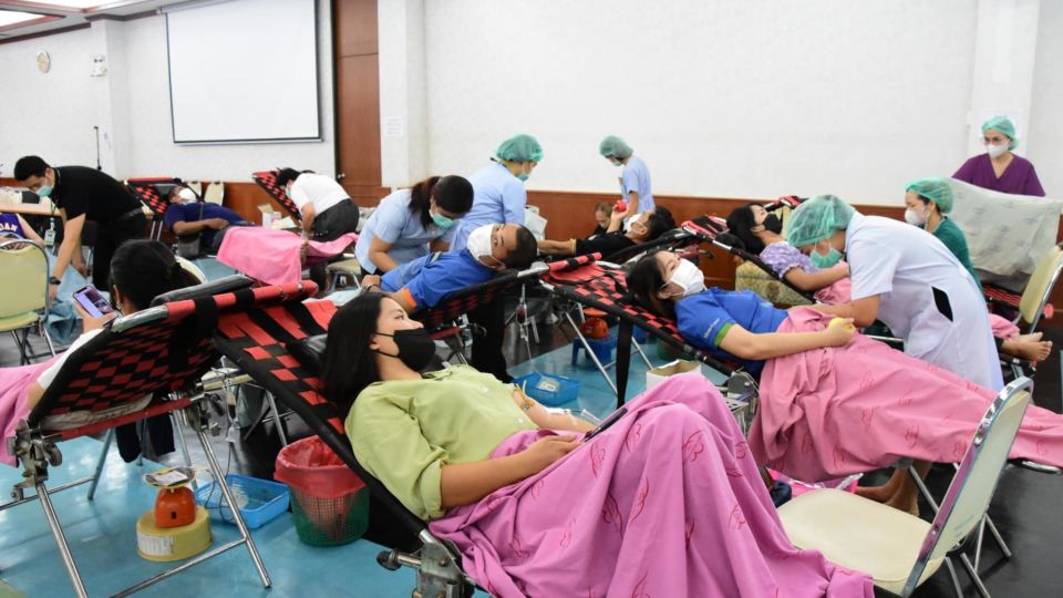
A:
<svg viewBox="0 0 1063 598">
<path fill-rule="evenodd" d="M 92 283 L 109 289 L 111 257 L 120 245 L 147 236 L 147 219 L 141 203 L 122 183 L 87 166 L 51 167 L 38 156 L 19 158 L 14 178 L 41 197 L 50 197 L 63 218 L 63 243 L 59 246 L 49 297 L 55 298 L 59 281 L 73 265 L 87 276 L 81 257 L 81 231 L 85 221 L 96 223 Z"/>
</svg>

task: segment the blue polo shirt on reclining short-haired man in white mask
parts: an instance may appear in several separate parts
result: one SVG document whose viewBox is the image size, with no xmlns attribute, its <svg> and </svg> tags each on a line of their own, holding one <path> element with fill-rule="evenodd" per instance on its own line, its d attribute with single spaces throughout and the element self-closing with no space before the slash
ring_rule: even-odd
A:
<svg viewBox="0 0 1063 598">
<path fill-rule="evenodd" d="M 380 288 L 405 296 L 414 309 L 440 305 L 447 296 L 486 282 L 495 271 L 473 257 L 468 249 L 435 252 L 403 264 L 385 274 Z"/>
</svg>

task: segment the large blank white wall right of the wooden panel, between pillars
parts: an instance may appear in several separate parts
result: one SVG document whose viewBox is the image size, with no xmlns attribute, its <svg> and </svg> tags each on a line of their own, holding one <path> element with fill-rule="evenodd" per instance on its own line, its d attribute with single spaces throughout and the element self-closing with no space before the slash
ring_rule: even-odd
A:
<svg viewBox="0 0 1063 598">
<path fill-rule="evenodd" d="M 611 192 L 597 146 L 618 134 L 659 194 L 898 204 L 967 157 L 977 9 L 425 2 L 429 169 L 471 173 L 526 132 L 546 153 L 529 188 Z"/>
</svg>

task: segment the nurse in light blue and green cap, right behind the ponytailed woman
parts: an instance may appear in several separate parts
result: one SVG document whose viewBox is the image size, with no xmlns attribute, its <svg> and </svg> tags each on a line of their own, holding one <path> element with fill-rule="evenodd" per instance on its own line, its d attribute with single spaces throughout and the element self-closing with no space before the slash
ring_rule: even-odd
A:
<svg viewBox="0 0 1063 598">
<path fill-rule="evenodd" d="M 473 209 L 457 225 L 451 251 L 465 248 L 468 235 L 488 224 L 524 225 L 528 193 L 524 182 L 543 159 L 543 146 L 532 135 L 515 135 L 502 142 L 493 164 L 468 177 L 473 184 Z"/>
</svg>

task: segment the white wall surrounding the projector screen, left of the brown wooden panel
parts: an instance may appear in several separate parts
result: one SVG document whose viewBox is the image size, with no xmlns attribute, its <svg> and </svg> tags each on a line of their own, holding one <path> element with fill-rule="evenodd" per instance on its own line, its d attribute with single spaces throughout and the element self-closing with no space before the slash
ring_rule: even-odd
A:
<svg viewBox="0 0 1063 598">
<path fill-rule="evenodd" d="M 4 164 L 0 176 L 11 176 L 14 162 L 33 153 L 51 164 L 95 165 L 92 126 L 96 124 L 106 137 L 101 141 L 104 171 L 118 178 L 250 181 L 251 172 L 275 166 L 332 173 L 336 153 L 329 8 L 329 2 L 318 2 L 321 142 L 174 144 L 166 22 L 162 16 L 97 21 L 91 29 L 0 45 L 0 81 L 8 90 L 0 95 L 0 163 Z M 106 35 L 101 35 L 101 30 L 107 30 Z M 52 54 L 53 66 L 48 74 L 37 70 L 33 56 L 39 50 Z M 107 76 L 89 76 L 90 55 L 96 52 L 107 53 Z"/>
</svg>

